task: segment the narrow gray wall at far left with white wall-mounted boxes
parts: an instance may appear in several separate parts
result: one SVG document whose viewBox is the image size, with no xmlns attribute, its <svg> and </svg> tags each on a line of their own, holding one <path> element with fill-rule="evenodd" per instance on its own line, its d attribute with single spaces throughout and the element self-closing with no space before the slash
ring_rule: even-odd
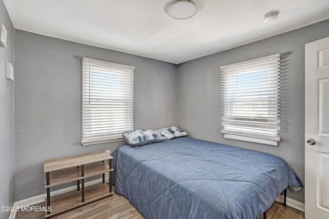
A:
<svg viewBox="0 0 329 219">
<path fill-rule="evenodd" d="M 3 1 L 0 1 L 0 25 L 7 29 L 7 48 L 0 47 L 0 206 L 14 202 L 15 131 L 14 131 L 14 82 L 5 78 L 5 63 L 14 65 L 15 30 Z M 0 218 L 9 212 L 0 211 Z"/>
</svg>

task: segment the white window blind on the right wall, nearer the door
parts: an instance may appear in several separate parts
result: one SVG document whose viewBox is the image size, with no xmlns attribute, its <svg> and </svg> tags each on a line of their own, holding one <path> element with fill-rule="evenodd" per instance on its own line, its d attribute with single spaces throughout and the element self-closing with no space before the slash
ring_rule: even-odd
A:
<svg viewBox="0 0 329 219">
<path fill-rule="evenodd" d="M 221 67 L 225 138 L 280 142 L 280 54 Z"/>
</svg>

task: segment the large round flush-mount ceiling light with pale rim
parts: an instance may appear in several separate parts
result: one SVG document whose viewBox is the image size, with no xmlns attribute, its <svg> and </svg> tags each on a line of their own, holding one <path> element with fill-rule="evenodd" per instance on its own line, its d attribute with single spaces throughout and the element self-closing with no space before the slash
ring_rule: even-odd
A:
<svg viewBox="0 0 329 219">
<path fill-rule="evenodd" d="M 197 12 L 197 5 L 189 0 L 178 0 L 169 5 L 167 13 L 175 19 L 189 19 Z"/>
</svg>

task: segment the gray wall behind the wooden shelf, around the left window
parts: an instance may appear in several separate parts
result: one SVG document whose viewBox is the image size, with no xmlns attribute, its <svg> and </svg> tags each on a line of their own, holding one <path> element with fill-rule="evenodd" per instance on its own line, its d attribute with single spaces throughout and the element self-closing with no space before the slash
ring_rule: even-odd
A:
<svg viewBox="0 0 329 219">
<path fill-rule="evenodd" d="M 135 129 L 176 125 L 174 64 L 21 30 L 15 45 L 15 201 L 45 193 L 44 160 L 124 144 L 80 145 L 84 56 L 136 66 Z"/>
</svg>

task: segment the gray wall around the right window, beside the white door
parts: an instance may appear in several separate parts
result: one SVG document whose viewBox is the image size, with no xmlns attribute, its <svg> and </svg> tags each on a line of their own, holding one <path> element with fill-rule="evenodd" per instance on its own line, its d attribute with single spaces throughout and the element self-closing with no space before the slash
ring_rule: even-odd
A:
<svg viewBox="0 0 329 219">
<path fill-rule="evenodd" d="M 278 155 L 304 182 L 304 45 L 326 36 L 329 20 L 178 65 L 178 127 L 191 137 Z M 220 66 L 276 53 L 282 55 L 280 146 L 224 139 Z M 287 196 L 304 202 L 304 190 Z"/>
</svg>

